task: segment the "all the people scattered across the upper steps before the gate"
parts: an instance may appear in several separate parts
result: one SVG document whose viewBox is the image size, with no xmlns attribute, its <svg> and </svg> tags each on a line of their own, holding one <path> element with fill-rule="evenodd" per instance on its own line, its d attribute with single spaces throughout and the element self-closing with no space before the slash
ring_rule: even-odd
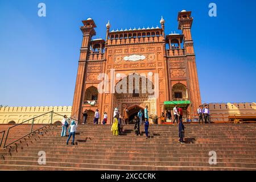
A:
<svg viewBox="0 0 256 182">
<path fill-rule="evenodd" d="M 185 127 L 183 125 L 183 110 L 181 107 L 177 107 L 175 105 L 174 109 L 174 121 L 173 123 L 179 123 L 179 142 L 181 144 L 184 143 L 184 133 L 185 133 Z M 205 120 L 205 123 L 209 123 L 209 108 L 208 105 L 205 105 L 203 108 L 203 105 L 200 105 L 199 108 L 197 109 L 197 114 L 199 115 L 199 123 L 203 123 Z M 83 115 L 83 122 L 82 124 L 86 123 L 86 119 L 88 118 L 88 113 L 87 110 L 82 113 Z M 162 113 L 161 117 L 164 117 L 164 113 Z M 134 118 L 134 131 L 135 131 L 135 136 L 140 135 L 141 136 L 141 125 L 142 125 L 142 118 L 143 118 L 143 111 L 142 109 L 139 110 L 138 114 L 135 115 Z M 166 118 L 171 119 L 171 111 L 166 112 Z M 203 119 L 204 118 L 204 119 Z M 98 109 L 96 109 L 94 113 L 94 119 L 93 119 L 93 124 L 98 125 L 98 120 L 100 119 L 100 113 Z M 146 138 L 148 138 L 148 128 L 149 128 L 149 121 L 148 121 L 148 106 L 144 109 L 144 131 L 146 134 Z M 178 122 L 179 121 L 179 122 Z M 104 118 L 102 121 L 103 125 L 106 125 L 108 122 L 108 114 L 105 112 L 104 113 Z M 67 133 L 67 129 L 69 126 L 69 118 L 67 118 L 67 115 L 64 116 L 62 123 L 62 131 L 61 131 L 61 137 L 65 137 Z M 127 106 L 123 109 L 122 114 L 119 113 L 118 108 L 116 107 L 114 109 L 114 114 L 113 114 L 113 125 L 111 128 L 111 131 L 113 131 L 114 136 L 118 136 L 123 133 L 123 127 L 125 125 L 129 124 L 129 110 L 127 109 Z M 74 144 L 75 140 L 75 132 L 77 129 L 77 122 L 72 120 L 71 126 L 69 126 L 69 137 L 67 140 L 67 144 L 69 142 L 69 139 L 73 136 L 73 140 L 71 144 Z"/>
</svg>

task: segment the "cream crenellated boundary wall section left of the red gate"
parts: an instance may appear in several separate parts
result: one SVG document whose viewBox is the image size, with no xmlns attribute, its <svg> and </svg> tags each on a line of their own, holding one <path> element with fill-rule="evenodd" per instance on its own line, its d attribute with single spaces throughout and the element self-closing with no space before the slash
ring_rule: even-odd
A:
<svg viewBox="0 0 256 182">
<path fill-rule="evenodd" d="M 54 111 L 53 123 L 61 121 L 61 115 L 71 116 L 72 106 L 37 106 L 37 107 L 1 107 L 0 108 L 0 124 L 8 124 L 9 122 L 21 123 L 28 119 L 39 115 Z M 26 122 L 27 123 L 27 122 Z M 31 121 L 30 121 L 31 123 Z M 51 114 L 43 115 L 35 119 L 35 124 L 51 123 Z"/>
</svg>

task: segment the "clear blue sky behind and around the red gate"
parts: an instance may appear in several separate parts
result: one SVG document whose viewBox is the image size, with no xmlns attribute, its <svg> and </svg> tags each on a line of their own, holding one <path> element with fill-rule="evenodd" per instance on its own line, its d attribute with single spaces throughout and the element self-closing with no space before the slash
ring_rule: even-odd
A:
<svg viewBox="0 0 256 182">
<path fill-rule="evenodd" d="M 38 3 L 47 16 L 38 16 Z M 210 2 L 217 17 L 208 16 Z M 81 20 L 93 18 L 94 38 L 112 28 L 177 31 L 177 13 L 191 10 L 192 37 L 204 102 L 256 101 L 256 1 L 0 1 L 0 105 L 72 105 Z M 111 28 L 111 30 L 112 30 Z"/>
</svg>

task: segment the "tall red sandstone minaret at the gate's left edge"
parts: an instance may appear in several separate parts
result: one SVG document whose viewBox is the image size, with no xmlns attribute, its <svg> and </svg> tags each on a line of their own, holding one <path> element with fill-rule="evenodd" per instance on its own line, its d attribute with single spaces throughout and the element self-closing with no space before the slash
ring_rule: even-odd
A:
<svg viewBox="0 0 256 182">
<path fill-rule="evenodd" d="M 82 111 L 79 109 L 82 106 L 82 98 L 84 93 L 86 59 L 89 53 L 90 40 L 92 39 L 92 36 L 96 35 L 94 30 L 94 28 L 96 28 L 96 24 L 92 18 L 83 20 L 82 23 L 84 24 L 84 26 L 80 27 L 82 31 L 82 46 L 80 49 L 79 67 L 77 70 L 76 87 L 72 107 L 72 117 L 78 119 L 79 121 L 82 113 Z"/>
</svg>

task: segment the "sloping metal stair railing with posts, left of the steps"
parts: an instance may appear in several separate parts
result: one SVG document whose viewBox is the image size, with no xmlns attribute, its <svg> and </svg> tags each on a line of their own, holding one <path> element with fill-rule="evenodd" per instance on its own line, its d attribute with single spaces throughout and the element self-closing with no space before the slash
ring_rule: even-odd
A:
<svg viewBox="0 0 256 182">
<path fill-rule="evenodd" d="M 40 127 L 39 129 L 36 129 L 36 130 L 33 131 L 35 119 L 36 119 L 36 118 L 39 118 L 39 117 L 42 117 L 42 116 L 44 116 L 44 115 L 50 114 L 50 113 L 51 113 L 51 116 L 50 116 L 50 117 L 51 117 L 51 120 L 50 120 L 51 123 L 48 123 L 47 125 L 44 125 L 43 127 Z M 22 125 L 22 124 L 24 124 L 24 123 L 28 123 L 28 122 L 30 122 L 31 120 L 32 120 L 32 123 L 31 123 L 30 133 L 28 133 L 28 134 L 24 135 L 23 137 L 20 137 L 19 139 L 16 139 L 16 140 L 14 140 L 13 142 L 7 144 L 7 139 L 8 139 L 8 137 L 9 137 L 10 130 L 11 130 L 11 129 L 14 129 L 15 127 L 20 126 L 20 125 Z M 6 147 L 10 146 L 11 144 L 13 144 L 13 143 L 15 143 L 15 142 L 18 142 L 19 140 L 21 140 L 21 139 L 27 137 L 28 135 L 30 135 L 30 134 L 32 134 L 32 133 L 35 133 L 36 131 L 39 131 L 39 130 L 41 130 L 41 129 L 47 127 L 47 126 L 52 125 L 52 122 L 53 122 L 53 110 L 52 110 L 52 111 L 49 111 L 48 113 L 44 113 L 44 114 L 42 114 L 42 115 L 38 115 L 37 117 L 28 119 L 27 121 L 24 121 L 24 122 L 19 123 L 19 124 L 17 124 L 17 125 L 14 125 L 14 126 L 9 127 L 8 130 L 7 130 L 7 133 L 6 133 L 5 143 L 3 144 L 3 148 L 6 148 Z M 4 133 L 4 134 L 5 134 L 5 131 L 2 131 L 1 133 Z M 4 134 L 3 134 L 3 135 L 4 135 Z M 2 137 L 2 139 L 1 139 L 1 145 L 2 145 L 2 140 L 3 140 L 3 137 Z M 0 147 L 1 147 L 1 145 L 0 145 Z"/>
</svg>

